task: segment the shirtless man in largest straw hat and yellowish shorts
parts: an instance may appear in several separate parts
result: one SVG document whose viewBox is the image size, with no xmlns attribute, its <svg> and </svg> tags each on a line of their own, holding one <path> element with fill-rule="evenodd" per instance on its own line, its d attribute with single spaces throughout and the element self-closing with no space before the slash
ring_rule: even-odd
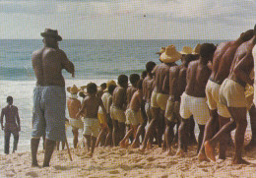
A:
<svg viewBox="0 0 256 178">
<path fill-rule="evenodd" d="M 165 52 L 160 55 L 160 65 L 157 65 L 152 71 L 155 74 L 155 88 L 152 92 L 151 107 L 153 111 L 153 119 L 149 125 L 148 131 L 144 138 L 141 150 L 145 150 L 148 140 L 155 130 L 157 125 L 157 138 L 159 147 L 161 147 L 162 129 L 164 129 L 160 122 L 164 118 L 164 111 L 169 97 L 169 68 L 176 66 L 175 61 L 181 58 L 181 54 L 176 51 L 174 45 L 169 45 L 165 48 Z"/>
</svg>

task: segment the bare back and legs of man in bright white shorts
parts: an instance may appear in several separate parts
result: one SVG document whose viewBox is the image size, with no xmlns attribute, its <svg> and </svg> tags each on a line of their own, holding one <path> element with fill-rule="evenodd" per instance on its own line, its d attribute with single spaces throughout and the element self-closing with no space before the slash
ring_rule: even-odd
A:
<svg viewBox="0 0 256 178">
<path fill-rule="evenodd" d="M 186 74 L 186 82 L 187 86 L 185 89 L 185 92 L 188 95 L 194 96 L 194 97 L 205 97 L 205 88 L 206 84 L 208 82 L 208 79 L 211 75 L 211 69 L 208 66 L 208 62 L 212 61 L 213 55 L 209 58 L 203 58 L 199 57 L 199 60 L 192 61 L 189 63 L 187 74 Z M 178 133 L 178 151 L 177 155 L 183 156 L 183 152 L 186 151 L 187 148 L 187 133 L 186 130 L 188 129 L 188 119 L 182 118 L 181 124 L 179 126 L 179 133 Z M 203 141 L 203 135 L 204 135 L 204 125 L 198 125 L 199 126 L 199 136 L 198 136 L 198 151 L 201 147 L 202 141 Z"/>
</svg>

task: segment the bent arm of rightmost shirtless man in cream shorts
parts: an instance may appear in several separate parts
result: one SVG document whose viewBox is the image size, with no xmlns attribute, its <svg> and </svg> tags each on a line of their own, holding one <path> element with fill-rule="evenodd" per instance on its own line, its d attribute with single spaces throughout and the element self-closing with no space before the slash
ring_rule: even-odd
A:
<svg viewBox="0 0 256 178">
<path fill-rule="evenodd" d="M 236 64 L 236 66 L 233 69 L 233 72 L 237 78 L 252 86 L 253 80 L 250 79 L 249 74 L 245 71 L 251 71 L 253 69 L 253 66 L 253 56 L 249 52 Z"/>
</svg>

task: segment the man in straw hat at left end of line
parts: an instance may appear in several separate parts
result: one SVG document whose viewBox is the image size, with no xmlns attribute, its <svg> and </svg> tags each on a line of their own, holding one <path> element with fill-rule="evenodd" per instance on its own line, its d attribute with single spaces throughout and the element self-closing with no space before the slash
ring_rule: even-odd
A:
<svg viewBox="0 0 256 178">
<path fill-rule="evenodd" d="M 74 135 L 73 144 L 74 148 L 77 148 L 78 145 L 78 130 L 84 128 L 84 123 L 81 119 L 77 119 L 76 115 L 78 111 L 81 109 L 81 101 L 78 99 L 78 91 L 80 89 L 77 88 L 76 85 L 73 85 L 72 88 L 67 89 L 70 92 L 69 99 L 67 101 L 68 111 L 69 111 L 69 123 L 72 127 L 72 133 Z"/>
</svg>

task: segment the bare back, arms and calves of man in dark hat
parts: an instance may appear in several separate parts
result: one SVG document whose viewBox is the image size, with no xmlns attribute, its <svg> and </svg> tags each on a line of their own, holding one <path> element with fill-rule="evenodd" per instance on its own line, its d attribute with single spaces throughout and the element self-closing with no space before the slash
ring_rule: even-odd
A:
<svg viewBox="0 0 256 178">
<path fill-rule="evenodd" d="M 32 53 L 32 69 L 36 78 L 36 86 L 59 86 L 65 87 L 65 81 L 62 76 L 62 69 L 75 77 L 74 64 L 69 61 L 65 52 L 58 47 L 56 38 L 46 36 L 43 38 L 43 48 Z M 38 166 L 36 152 L 39 139 L 32 138 L 32 166 Z M 53 149 L 56 145 L 55 141 L 45 140 L 45 153 L 43 167 L 49 166 Z"/>
</svg>

